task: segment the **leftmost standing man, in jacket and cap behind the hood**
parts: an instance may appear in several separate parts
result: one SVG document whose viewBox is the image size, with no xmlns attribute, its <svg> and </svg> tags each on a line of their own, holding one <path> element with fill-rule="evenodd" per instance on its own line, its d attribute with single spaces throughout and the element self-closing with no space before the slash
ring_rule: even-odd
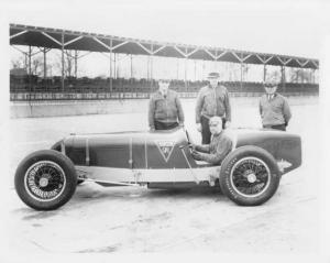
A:
<svg viewBox="0 0 330 263">
<path fill-rule="evenodd" d="M 158 90 L 150 98 L 150 130 L 170 130 L 185 122 L 184 110 L 176 91 L 168 89 L 168 79 L 158 80 Z"/>
</svg>

